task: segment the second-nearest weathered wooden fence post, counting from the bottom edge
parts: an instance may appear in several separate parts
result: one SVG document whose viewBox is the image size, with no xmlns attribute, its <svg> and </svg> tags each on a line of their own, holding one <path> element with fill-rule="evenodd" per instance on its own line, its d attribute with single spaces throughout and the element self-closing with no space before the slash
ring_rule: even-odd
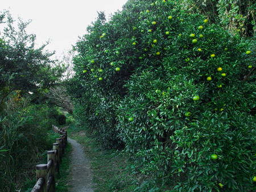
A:
<svg viewBox="0 0 256 192">
<path fill-rule="evenodd" d="M 47 191 L 55 192 L 55 151 L 47 151 Z"/>
</svg>

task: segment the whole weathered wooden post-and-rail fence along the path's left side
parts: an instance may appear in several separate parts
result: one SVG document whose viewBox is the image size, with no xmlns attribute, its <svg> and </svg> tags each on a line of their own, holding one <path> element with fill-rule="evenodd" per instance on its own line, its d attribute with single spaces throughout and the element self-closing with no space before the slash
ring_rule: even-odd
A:
<svg viewBox="0 0 256 192">
<path fill-rule="evenodd" d="M 47 151 L 47 164 L 36 165 L 36 184 L 31 192 L 54 192 L 55 174 L 60 173 L 61 157 L 67 146 L 68 133 L 62 128 L 52 125 L 52 130 L 60 133 L 60 138 L 53 143 L 53 150 Z"/>
</svg>

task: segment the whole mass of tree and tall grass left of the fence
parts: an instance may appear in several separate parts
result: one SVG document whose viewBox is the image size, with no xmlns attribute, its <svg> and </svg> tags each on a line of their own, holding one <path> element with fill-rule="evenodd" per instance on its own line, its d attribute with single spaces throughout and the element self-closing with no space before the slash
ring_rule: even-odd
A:
<svg viewBox="0 0 256 192">
<path fill-rule="evenodd" d="M 52 124 L 65 123 L 59 108 L 48 105 L 44 90 L 55 85 L 61 73 L 53 67 L 52 53 L 35 49 L 35 35 L 26 34 L 29 22 L 18 22 L 0 12 L 5 26 L 0 38 L 0 191 L 20 189 L 47 148 Z"/>
</svg>

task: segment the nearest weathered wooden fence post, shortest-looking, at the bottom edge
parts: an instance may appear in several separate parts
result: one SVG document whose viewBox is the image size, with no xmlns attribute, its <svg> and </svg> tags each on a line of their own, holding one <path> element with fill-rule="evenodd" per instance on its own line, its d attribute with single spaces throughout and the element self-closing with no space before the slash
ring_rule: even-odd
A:
<svg viewBox="0 0 256 192">
<path fill-rule="evenodd" d="M 36 165 L 36 185 L 31 192 L 47 192 L 47 164 Z"/>
</svg>

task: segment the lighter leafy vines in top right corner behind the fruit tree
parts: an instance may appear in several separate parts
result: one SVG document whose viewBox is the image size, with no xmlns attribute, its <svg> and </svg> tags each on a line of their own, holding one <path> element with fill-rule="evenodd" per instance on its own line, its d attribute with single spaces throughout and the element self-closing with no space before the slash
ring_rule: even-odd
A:
<svg viewBox="0 0 256 192">
<path fill-rule="evenodd" d="M 183 0 L 181 0 L 183 1 Z M 234 34 L 253 36 L 256 31 L 254 0 L 184 0 L 189 9 L 205 14 Z"/>
</svg>

